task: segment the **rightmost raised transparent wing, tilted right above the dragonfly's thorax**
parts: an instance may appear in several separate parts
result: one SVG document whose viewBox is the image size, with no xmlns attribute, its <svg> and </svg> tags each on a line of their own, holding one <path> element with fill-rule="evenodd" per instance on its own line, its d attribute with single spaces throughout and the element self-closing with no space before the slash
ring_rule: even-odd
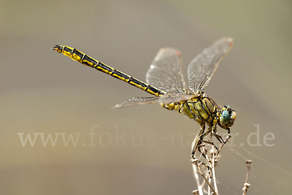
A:
<svg viewBox="0 0 292 195">
<path fill-rule="evenodd" d="M 204 49 L 187 69 L 188 86 L 194 92 L 204 90 L 212 79 L 220 61 L 233 45 L 232 38 L 222 38 Z"/>
</svg>

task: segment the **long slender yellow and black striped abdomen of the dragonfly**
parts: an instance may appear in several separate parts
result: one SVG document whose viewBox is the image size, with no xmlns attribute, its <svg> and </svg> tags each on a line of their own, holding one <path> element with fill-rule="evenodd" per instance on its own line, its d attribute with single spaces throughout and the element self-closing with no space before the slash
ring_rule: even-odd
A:
<svg viewBox="0 0 292 195">
<path fill-rule="evenodd" d="M 159 90 L 151 85 L 148 85 L 145 82 L 142 82 L 136 78 L 130 77 L 127 74 L 122 73 L 121 71 L 118 71 L 114 68 L 111 68 L 110 66 L 107 66 L 106 64 L 101 63 L 96 59 L 92 59 L 91 57 L 78 51 L 77 49 L 62 45 L 56 45 L 55 47 L 53 47 L 53 49 L 58 53 L 62 53 L 65 56 L 68 56 L 71 59 L 76 60 L 84 65 L 95 68 L 96 70 L 104 72 L 114 78 L 118 78 L 129 83 L 130 85 L 138 87 L 139 89 L 142 89 L 143 91 L 146 91 L 147 93 L 153 96 L 164 97 L 166 95 L 166 92 Z"/>
</svg>

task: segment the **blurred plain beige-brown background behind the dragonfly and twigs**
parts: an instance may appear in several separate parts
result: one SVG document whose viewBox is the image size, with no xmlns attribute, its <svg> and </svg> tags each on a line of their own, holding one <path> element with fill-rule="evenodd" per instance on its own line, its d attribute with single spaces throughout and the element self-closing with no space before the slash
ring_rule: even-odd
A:
<svg viewBox="0 0 292 195">
<path fill-rule="evenodd" d="M 221 37 L 235 44 L 205 92 L 237 119 L 219 192 L 242 194 L 251 159 L 248 194 L 289 194 L 291 8 L 289 0 L 2 0 L 0 194 L 191 194 L 199 125 L 157 104 L 111 109 L 148 94 L 50 48 L 75 47 L 145 81 L 159 48 L 181 50 L 187 78 L 190 60 Z"/>
</svg>

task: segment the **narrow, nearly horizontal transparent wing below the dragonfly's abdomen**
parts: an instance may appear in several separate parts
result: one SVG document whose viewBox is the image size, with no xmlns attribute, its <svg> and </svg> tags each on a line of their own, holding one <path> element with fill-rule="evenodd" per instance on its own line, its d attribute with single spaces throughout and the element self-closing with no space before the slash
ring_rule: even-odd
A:
<svg viewBox="0 0 292 195">
<path fill-rule="evenodd" d="M 145 105 L 145 104 L 151 104 L 151 103 L 171 103 L 171 102 L 178 102 L 187 100 L 188 98 L 192 98 L 193 95 L 190 94 L 180 94 L 177 97 L 171 97 L 171 98 L 164 98 L 164 97 L 134 97 L 130 98 L 128 101 L 124 101 L 121 104 L 116 104 L 114 108 L 124 108 L 128 106 L 136 106 L 136 105 Z"/>
</svg>

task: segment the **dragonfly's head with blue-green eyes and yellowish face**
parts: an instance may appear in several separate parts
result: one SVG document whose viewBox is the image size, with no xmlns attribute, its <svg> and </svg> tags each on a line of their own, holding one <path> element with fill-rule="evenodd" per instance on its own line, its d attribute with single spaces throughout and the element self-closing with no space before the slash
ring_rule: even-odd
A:
<svg viewBox="0 0 292 195">
<path fill-rule="evenodd" d="M 223 129 L 229 129 L 235 121 L 236 112 L 230 108 L 230 106 L 225 105 L 219 115 L 219 126 Z"/>
</svg>

